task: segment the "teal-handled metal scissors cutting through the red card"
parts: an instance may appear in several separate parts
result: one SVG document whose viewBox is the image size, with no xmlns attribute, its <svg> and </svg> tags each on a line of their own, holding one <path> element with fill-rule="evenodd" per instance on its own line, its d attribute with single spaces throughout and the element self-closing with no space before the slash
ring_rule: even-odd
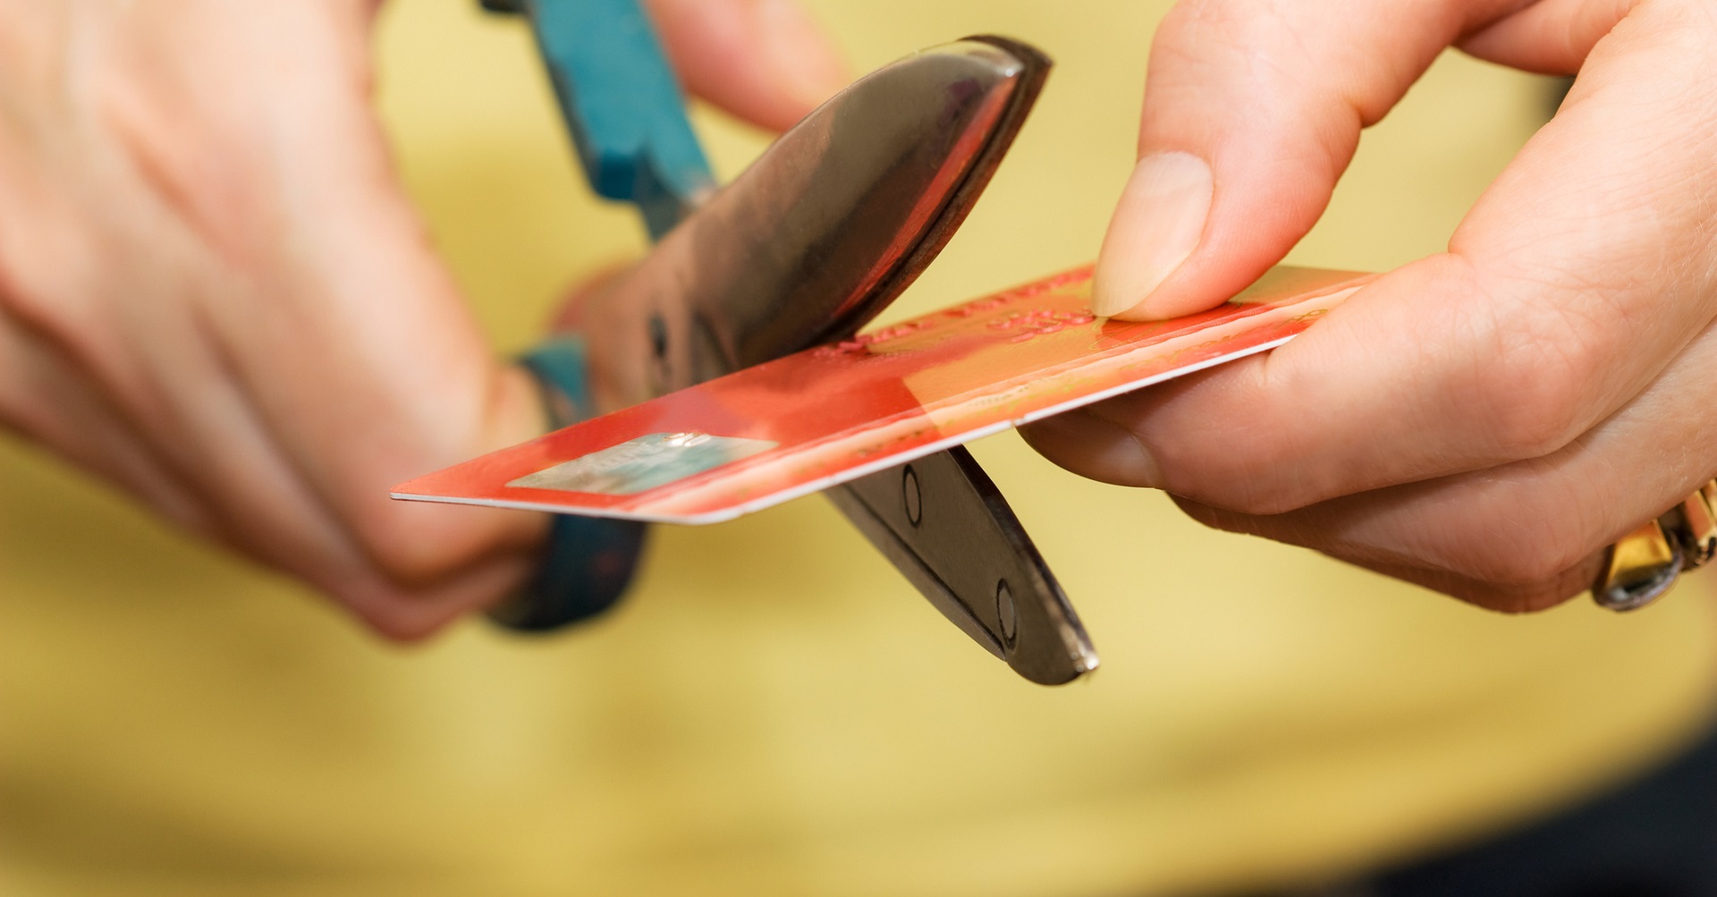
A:
<svg viewBox="0 0 1717 897">
<path fill-rule="evenodd" d="M 601 289 L 579 333 L 522 361 L 555 426 L 852 337 L 936 258 L 1049 72 L 967 38 L 886 65 L 719 187 L 637 0 L 481 0 L 529 19 L 591 187 L 637 206 L 654 251 Z M 826 491 L 956 627 L 1032 682 L 1097 655 L 1061 584 L 960 447 Z M 549 631 L 625 591 L 646 524 L 556 516 L 539 576 L 491 619 Z"/>
</svg>

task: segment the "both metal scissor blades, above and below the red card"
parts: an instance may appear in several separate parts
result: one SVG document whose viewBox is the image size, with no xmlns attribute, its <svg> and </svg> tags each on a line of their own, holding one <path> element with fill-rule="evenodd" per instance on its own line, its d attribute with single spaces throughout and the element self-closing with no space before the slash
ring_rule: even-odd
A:
<svg viewBox="0 0 1717 897">
<path fill-rule="evenodd" d="M 587 306 L 598 409 L 855 333 L 965 220 L 1047 72 L 1027 45 L 968 38 L 886 65 L 812 112 Z M 1027 679 L 1094 668 L 1066 596 L 977 462 L 953 450 L 910 469 L 929 509 L 922 526 L 896 507 L 903 471 L 831 497 L 932 605 Z"/>
</svg>

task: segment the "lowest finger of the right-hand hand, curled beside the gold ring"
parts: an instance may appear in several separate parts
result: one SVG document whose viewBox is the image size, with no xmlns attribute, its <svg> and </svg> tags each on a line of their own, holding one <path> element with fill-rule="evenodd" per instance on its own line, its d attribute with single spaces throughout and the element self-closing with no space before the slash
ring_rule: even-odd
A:
<svg viewBox="0 0 1717 897">
<path fill-rule="evenodd" d="M 1549 457 L 1348 495 L 1274 516 L 1181 500 L 1195 519 L 1305 545 L 1499 610 L 1592 584 L 1604 546 L 1717 474 L 1705 395 L 1717 328 L 1635 402 Z M 1665 450 L 1665 447 L 1688 447 Z"/>
</svg>

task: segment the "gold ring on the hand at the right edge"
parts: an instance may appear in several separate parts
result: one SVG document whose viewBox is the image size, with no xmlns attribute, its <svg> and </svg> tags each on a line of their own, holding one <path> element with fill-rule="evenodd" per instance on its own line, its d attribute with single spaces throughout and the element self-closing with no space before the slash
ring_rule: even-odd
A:
<svg viewBox="0 0 1717 897">
<path fill-rule="evenodd" d="M 1717 479 L 1609 546 L 1592 598 L 1611 610 L 1638 610 L 1669 591 L 1681 571 L 1717 557 Z"/>
</svg>

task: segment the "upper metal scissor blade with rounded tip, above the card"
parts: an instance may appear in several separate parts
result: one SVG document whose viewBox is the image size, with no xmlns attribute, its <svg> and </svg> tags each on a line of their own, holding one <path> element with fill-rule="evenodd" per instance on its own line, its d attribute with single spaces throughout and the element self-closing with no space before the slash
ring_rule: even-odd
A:
<svg viewBox="0 0 1717 897">
<path fill-rule="evenodd" d="M 591 302 L 598 407 L 855 333 L 965 220 L 1047 72 L 1030 46 L 968 38 L 807 115 Z"/>
</svg>

